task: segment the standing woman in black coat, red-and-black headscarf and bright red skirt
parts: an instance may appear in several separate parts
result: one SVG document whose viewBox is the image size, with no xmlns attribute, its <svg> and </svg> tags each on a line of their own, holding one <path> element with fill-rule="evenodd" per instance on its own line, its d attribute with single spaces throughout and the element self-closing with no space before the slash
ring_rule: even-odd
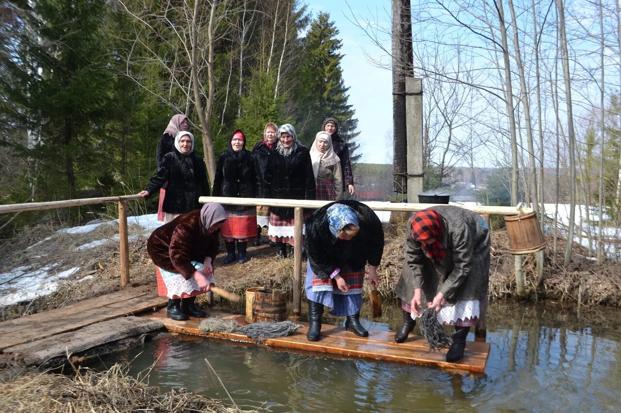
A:
<svg viewBox="0 0 621 413">
<path fill-rule="evenodd" d="M 236 130 L 229 138 L 229 148 L 220 154 L 215 167 L 214 197 L 254 198 L 256 196 L 256 174 L 252 153 L 246 150 L 246 137 Z M 227 242 L 227 256 L 224 264 L 235 259 L 240 264 L 247 262 L 248 241 L 256 239 L 256 207 L 224 205 L 227 220 L 222 224 L 222 236 Z M 238 256 L 235 255 L 237 241 Z"/>
</svg>

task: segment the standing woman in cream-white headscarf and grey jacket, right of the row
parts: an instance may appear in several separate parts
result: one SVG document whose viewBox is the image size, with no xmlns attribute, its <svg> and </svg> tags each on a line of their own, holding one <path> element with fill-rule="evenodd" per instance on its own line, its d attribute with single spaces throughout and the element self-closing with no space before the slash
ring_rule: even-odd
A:
<svg viewBox="0 0 621 413">
<path fill-rule="evenodd" d="M 335 201 L 343 197 L 341 160 L 332 148 L 332 136 L 325 131 L 317 132 L 311 147 L 312 172 L 317 189 L 315 198 Z"/>
</svg>

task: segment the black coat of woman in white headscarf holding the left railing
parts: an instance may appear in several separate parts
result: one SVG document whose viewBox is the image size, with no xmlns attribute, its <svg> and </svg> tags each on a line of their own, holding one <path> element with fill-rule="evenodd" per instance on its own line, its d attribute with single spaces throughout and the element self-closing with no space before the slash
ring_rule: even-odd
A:
<svg viewBox="0 0 621 413">
<path fill-rule="evenodd" d="M 209 197 L 207 171 L 201 157 L 184 155 L 175 149 L 164 155 L 161 165 L 145 190 L 152 196 L 168 181 L 161 209 L 168 213 L 186 213 L 201 208 L 199 197 Z"/>
</svg>

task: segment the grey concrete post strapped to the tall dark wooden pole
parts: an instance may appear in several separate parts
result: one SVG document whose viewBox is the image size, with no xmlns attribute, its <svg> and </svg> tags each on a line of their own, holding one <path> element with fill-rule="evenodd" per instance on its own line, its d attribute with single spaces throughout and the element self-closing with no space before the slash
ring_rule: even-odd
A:
<svg viewBox="0 0 621 413">
<path fill-rule="evenodd" d="M 406 78 L 407 200 L 418 202 L 423 192 L 422 79 Z"/>
</svg>

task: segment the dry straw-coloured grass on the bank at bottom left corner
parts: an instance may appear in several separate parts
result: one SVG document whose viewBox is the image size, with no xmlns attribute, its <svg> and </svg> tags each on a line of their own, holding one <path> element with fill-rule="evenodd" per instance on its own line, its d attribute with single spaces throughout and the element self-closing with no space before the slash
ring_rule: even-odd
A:
<svg viewBox="0 0 621 413">
<path fill-rule="evenodd" d="M 52 373 L 27 373 L 0 384 L 0 411 L 48 412 L 238 412 L 205 396 L 176 388 L 160 393 L 114 365 L 96 373 L 87 370 L 73 377 Z"/>
</svg>

